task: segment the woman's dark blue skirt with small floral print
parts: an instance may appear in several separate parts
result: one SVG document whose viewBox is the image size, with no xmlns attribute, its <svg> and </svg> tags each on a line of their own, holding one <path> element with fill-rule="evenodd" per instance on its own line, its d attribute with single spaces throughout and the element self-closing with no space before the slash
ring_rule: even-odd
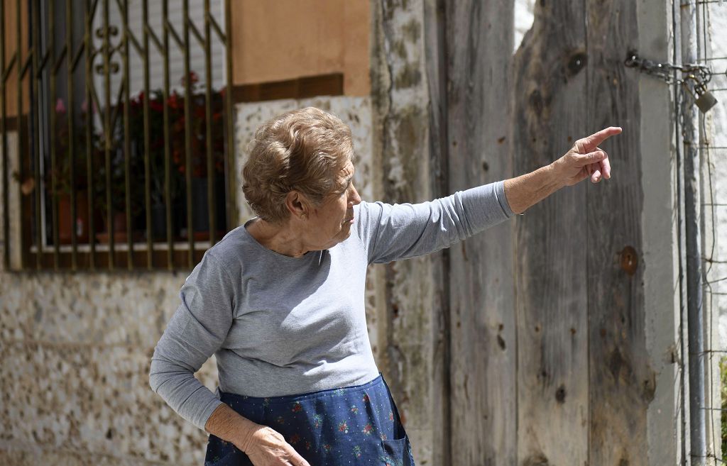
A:
<svg viewBox="0 0 727 466">
<path fill-rule="evenodd" d="M 415 466 L 411 446 L 383 377 L 355 387 L 254 398 L 220 391 L 253 422 L 281 433 L 311 466 Z M 205 466 L 250 466 L 232 443 L 209 436 Z"/>
</svg>

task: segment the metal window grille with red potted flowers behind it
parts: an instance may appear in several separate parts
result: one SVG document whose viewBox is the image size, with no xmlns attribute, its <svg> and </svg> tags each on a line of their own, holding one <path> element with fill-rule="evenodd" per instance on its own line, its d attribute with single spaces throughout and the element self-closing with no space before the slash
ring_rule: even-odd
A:
<svg viewBox="0 0 727 466">
<path fill-rule="evenodd" d="M 0 1 L 5 269 L 190 269 L 235 224 L 230 2 L 214 8 Z"/>
</svg>

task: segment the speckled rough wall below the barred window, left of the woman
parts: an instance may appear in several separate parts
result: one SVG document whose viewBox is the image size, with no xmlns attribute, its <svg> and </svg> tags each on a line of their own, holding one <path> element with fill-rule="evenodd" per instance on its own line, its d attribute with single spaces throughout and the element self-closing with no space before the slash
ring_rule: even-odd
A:
<svg viewBox="0 0 727 466">
<path fill-rule="evenodd" d="M 1 464 L 200 464 L 204 435 L 148 386 L 184 279 L 0 275 Z"/>
</svg>

